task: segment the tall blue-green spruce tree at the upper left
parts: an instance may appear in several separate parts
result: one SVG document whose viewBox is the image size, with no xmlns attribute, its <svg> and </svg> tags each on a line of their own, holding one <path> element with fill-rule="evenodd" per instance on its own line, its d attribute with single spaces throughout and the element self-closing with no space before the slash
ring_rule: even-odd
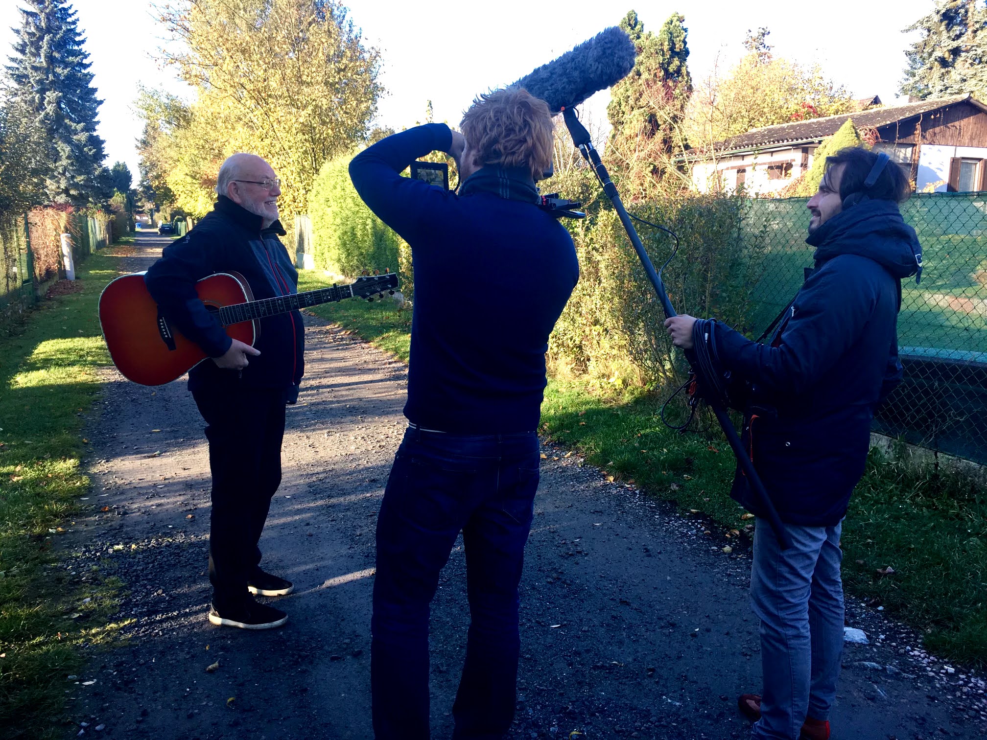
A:
<svg viewBox="0 0 987 740">
<path fill-rule="evenodd" d="M 96 98 L 77 17 L 66 0 L 25 0 L 7 72 L 13 94 L 35 117 L 49 148 L 45 187 L 56 203 L 103 200 L 109 172 L 96 135 Z"/>
</svg>

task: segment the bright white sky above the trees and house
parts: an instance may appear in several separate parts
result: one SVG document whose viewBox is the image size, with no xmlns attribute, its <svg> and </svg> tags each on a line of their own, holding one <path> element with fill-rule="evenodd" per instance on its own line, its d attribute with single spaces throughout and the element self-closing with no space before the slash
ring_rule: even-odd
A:
<svg viewBox="0 0 987 740">
<path fill-rule="evenodd" d="M 901 29 L 930 12 L 933 0 L 887 4 L 859 0 L 793 3 L 789 0 L 348 0 L 349 18 L 382 50 L 381 81 L 388 96 L 378 122 L 401 128 L 423 119 L 432 101 L 436 120 L 458 122 L 473 97 L 509 84 L 551 61 L 576 43 L 620 22 L 634 8 L 645 31 L 657 31 L 674 11 L 689 30 L 689 68 L 706 77 L 720 58 L 725 69 L 739 58 L 747 29 L 767 26 L 775 53 L 818 62 L 827 76 L 857 97 L 895 99 L 909 37 Z M 19 0 L 0 0 L 0 61 L 9 54 L 12 26 L 19 26 Z M 99 133 L 107 141 L 107 165 L 122 160 L 137 179 L 135 140 L 140 122 L 131 103 L 142 83 L 182 93 L 170 71 L 150 53 L 161 31 L 144 0 L 75 0 L 79 27 L 88 38 L 94 85 L 104 104 Z M 565 10 L 563 10 L 565 8 Z M 592 101 L 593 117 L 603 101 Z"/>
</svg>

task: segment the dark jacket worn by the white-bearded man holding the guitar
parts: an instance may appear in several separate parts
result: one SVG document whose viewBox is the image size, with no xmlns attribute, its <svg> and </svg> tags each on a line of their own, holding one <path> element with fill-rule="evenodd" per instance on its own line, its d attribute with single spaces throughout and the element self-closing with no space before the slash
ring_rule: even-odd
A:
<svg viewBox="0 0 987 740">
<path fill-rule="evenodd" d="M 239 272 L 250 284 L 255 300 L 297 292 L 298 272 L 277 238 L 279 222 L 261 228 L 261 216 L 220 195 L 213 210 L 195 224 L 184 239 L 166 247 L 151 265 L 144 282 L 165 318 L 198 344 L 210 357 L 230 348 L 231 339 L 198 300 L 195 282 L 216 272 Z M 297 311 L 259 320 L 254 346 L 243 371 L 222 370 L 211 360 L 189 373 L 191 391 L 213 384 L 235 383 L 252 388 L 297 386 L 305 369 L 304 329 Z"/>
</svg>

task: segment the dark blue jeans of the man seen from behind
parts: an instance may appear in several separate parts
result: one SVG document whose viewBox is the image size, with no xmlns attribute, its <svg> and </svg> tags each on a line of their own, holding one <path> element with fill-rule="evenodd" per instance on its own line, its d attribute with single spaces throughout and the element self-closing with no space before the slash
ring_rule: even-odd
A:
<svg viewBox="0 0 987 740">
<path fill-rule="evenodd" d="M 538 488 L 534 432 L 405 432 L 377 518 L 370 686 L 377 740 L 428 740 L 428 605 L 459 532 L 470 629 L 455 740 L 499 740 L 514 716 L 518 592 Z"/>
</svg>

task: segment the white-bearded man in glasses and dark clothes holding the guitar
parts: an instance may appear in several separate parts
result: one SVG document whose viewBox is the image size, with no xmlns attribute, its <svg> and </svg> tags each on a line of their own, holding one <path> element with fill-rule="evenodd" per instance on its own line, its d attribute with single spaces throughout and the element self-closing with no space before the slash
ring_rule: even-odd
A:
<svg viewBox="0 0 987 740">
<path fill-rule="evenodd" d="M 281 481 L 284 406 L 298 396 L 304 328 L 293 310 L 257 319 L 253 346 L 232 338 L 196 283 L 234 273 L 253 291 L 248 297 L 263 304 L 296 294 L 298 272 L 277 238 L 285 233 L 277 220 L 281 190 L 270 165 L 253 154 L 234 154 L 217 181 L 213 210 L 164 250 L 144 281 L 160 316 L 211 357 L 189 373 L 189 390 L 206 422 L 212 473 L 209 622 L 271 629 L 287 615 L 251 595 L 283 596 L 293 588 L 261 569 L 258 541 Z"/>
</svg>

